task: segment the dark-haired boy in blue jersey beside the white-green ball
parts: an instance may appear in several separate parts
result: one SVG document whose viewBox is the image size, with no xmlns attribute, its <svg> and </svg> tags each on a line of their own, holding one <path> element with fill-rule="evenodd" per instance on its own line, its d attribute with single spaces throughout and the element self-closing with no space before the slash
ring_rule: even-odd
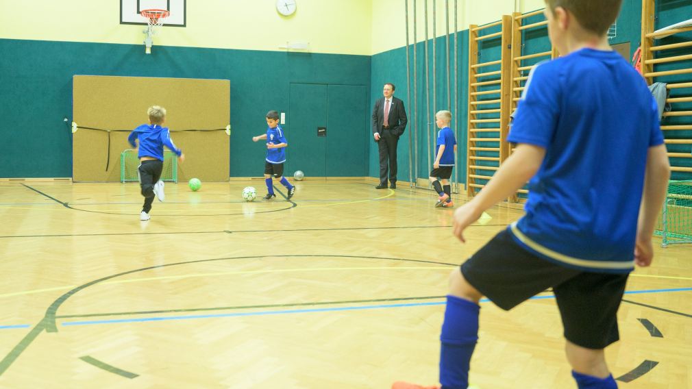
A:
<svg viewBox="0 0 692 389">
<path fill-rule="evenodd" d="M 289 143 L 284 136 L 284 130 L 279 125 L 279 113 L 277 111 L 268 111 L 266 113 L 266 125 L 266 134 L 253 136 L 253 142 L 257 142 L 260 139 L 267 140 L 266 162 L 264 163 L 264 182 L 266 183 L 267 193 L 264 199 L 269 200 L 276 197 L 271 177 L 276 177 L 286 187 L 286 190 L 289 192 L 286 197 L 291 199 L 293 194 L 295 194 L 295 186 L 291 185 L 286 177 L 283 177 L 284 162 L 286 162 L 286 150 L 284 150 L 284 147 L 288 147 Z"/>
</svg>

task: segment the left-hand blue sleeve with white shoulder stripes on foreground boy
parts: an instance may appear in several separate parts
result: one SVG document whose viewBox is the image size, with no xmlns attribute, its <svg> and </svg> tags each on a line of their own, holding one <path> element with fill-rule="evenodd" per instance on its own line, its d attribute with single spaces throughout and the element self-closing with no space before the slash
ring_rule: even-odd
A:
<svg viewBox="0 0 692 389">
<path fill-rule="evenodd" d="M 561 90 L 555 66 L 531 69 L 507 141 L 547 148 L 557 128 Z"/>
</svg>

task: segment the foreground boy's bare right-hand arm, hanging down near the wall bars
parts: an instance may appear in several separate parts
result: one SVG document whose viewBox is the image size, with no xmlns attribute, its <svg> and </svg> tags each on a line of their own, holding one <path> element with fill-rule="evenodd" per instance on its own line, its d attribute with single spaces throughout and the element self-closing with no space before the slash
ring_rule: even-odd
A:
<svg viewBox="0 0 692 389">
<path fill-rule="evenodd" d="M 644 192 L 641 196 L 639 220 L 637 221 L 635 263 L 639 266 L 649 266 L 653 260 L 651 236 L 663 202 L 666 200 L 670 177 L 671 164 L 668 162 L 666 145 L 649 147 L 644 173 Z"/>
</svg>

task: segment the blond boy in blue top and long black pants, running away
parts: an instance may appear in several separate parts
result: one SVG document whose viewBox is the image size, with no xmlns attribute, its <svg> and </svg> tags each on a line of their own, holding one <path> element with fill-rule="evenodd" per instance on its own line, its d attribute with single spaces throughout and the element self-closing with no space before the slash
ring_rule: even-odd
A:
<svg viewBox="0 0 692 389">
<path fill-rule="evenodd" d="M 158 201 L 165 199 L 163 181 L 161 181 L 163 146 L 165 145 L 172 150 L 178 156 L 180 162 L 185 161 L 183 152 L 173 144 L 168 128 L 161 127 L 165 123 L 165 108 L 154 105 L 147 109 L 147 115 L 149 115 L 149 124 L 140 125 L 127 137 L 130 145 L 138 148 L 137 155 L 140 165 L 137 171 L 142 195 L 144 196 L 144 206 L 139 216 L 139 219 L 142 221 L 151 219 L 149 211 L 152 210 L 154 195 L 158 198 Z M 139 147 L 137 147 L 135 140 L 139 142 Z"/>
</svg>

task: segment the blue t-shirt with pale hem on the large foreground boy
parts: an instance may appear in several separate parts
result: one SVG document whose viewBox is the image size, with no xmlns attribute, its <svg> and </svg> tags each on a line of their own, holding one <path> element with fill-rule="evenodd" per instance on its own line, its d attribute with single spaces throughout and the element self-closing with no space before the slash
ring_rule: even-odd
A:
<svg viewBox="0 0 692 389">
<path fill-rule="evenodd" d="M 664 141 L 641 75 L 591 48 L 540 64 L 507 140 L 546 150 L 526 215 L 509 226 L 516 241 L 565 266 L 632 271 L 646 155 Z"/>
</svg>

